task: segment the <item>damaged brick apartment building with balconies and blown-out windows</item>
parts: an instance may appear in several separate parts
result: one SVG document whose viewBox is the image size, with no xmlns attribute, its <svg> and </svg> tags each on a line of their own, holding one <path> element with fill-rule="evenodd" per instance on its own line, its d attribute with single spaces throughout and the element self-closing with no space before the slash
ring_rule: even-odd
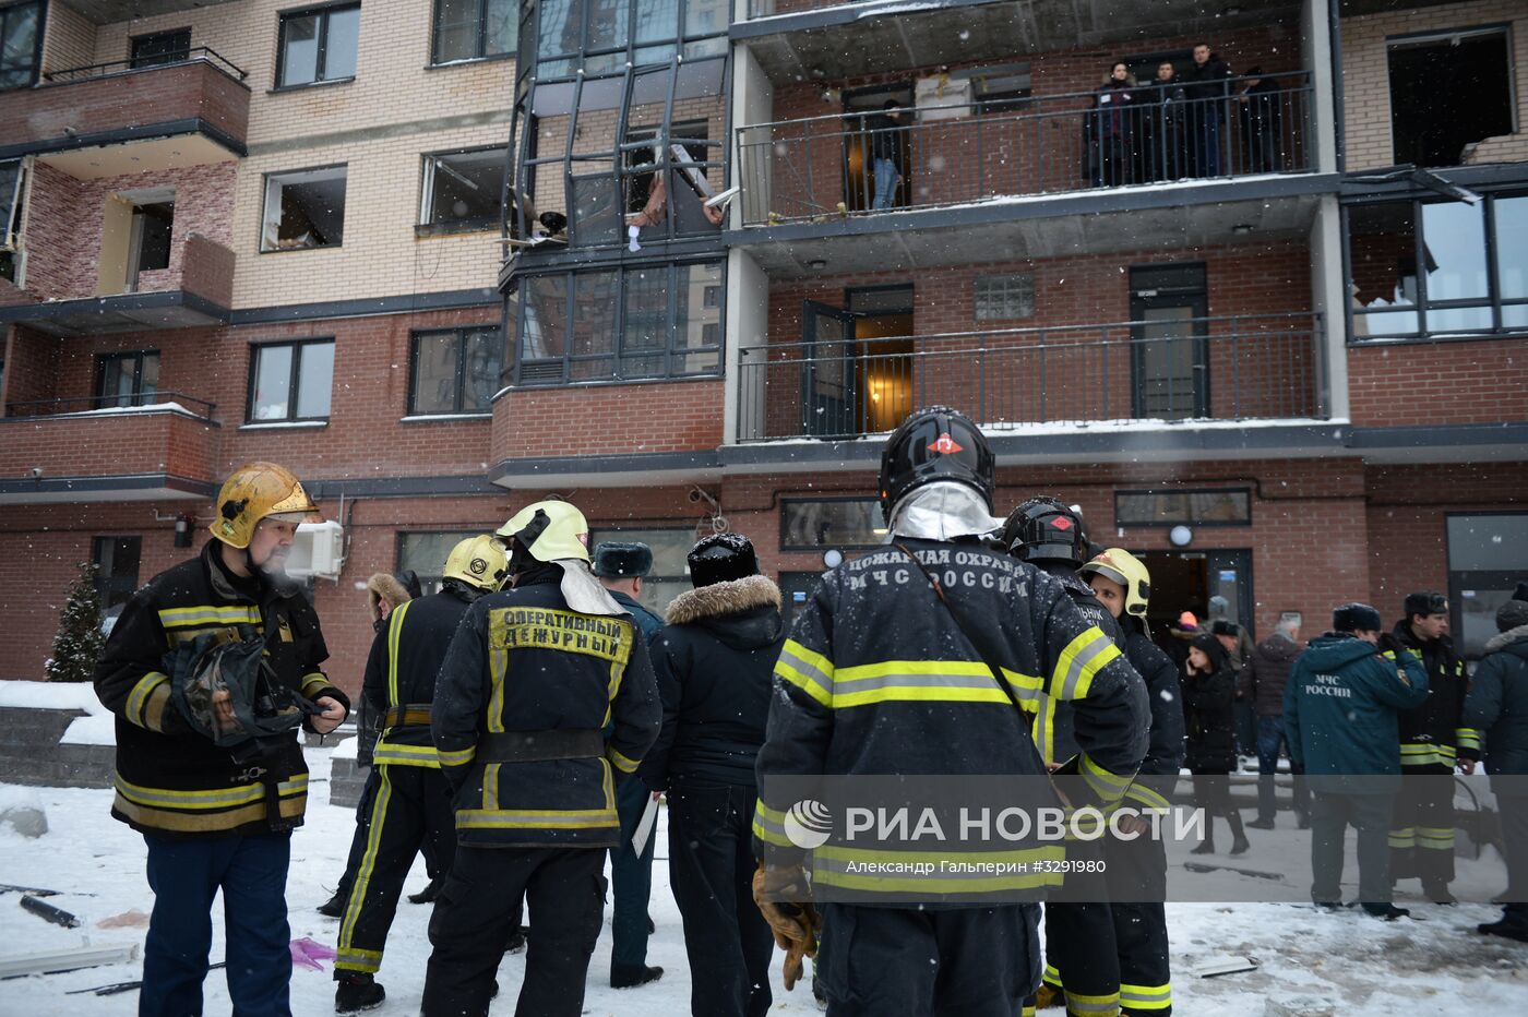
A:
<svg viewBox="0 0 1528 1017">
<path fill-rule="evenodd" d="M 877 435 L 934 402 L 987 429 L 999 513 L 1080 504 L 1164 617 L 1427 586 L 1471 649 L 1528 571 L 1510 0 L 0 0 L 0 31 L 5 676 L 78 562 L 119 603 L 252 458 L 338 524 L 312 591 L 350 687 L 368 574 L 549 493 L 652 545 L 656 605 L 727 527 L 788 609 L 880 542 Z"/>
</svg>

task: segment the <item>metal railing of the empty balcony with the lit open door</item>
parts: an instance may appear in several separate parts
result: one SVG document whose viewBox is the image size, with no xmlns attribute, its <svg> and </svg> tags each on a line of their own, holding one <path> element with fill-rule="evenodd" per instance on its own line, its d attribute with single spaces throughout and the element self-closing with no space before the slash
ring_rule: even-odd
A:
<svg viewBox="0 0 1528 1017">
<path fill-rule="evenodd" d="M 740 350 L 738 440 L 857 438 L 943 403 L 1002 429 L 1325 418 L 1319 315 L 1169 318 Z"/>
</svg>

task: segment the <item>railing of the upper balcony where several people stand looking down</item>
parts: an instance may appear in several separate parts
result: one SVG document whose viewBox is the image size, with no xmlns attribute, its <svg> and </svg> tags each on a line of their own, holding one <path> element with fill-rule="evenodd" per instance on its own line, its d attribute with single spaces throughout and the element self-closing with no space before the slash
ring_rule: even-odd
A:
<svg viewBox="0 0 1528 1017">
<path fill-rule="evenodd" d="M 1314 168 L 1306 72 L 1233 78 L 1210 98 L 1125 92 L 1105 107 L 1079 92 L 740 127 L 743 223 Z"/>
</svg>

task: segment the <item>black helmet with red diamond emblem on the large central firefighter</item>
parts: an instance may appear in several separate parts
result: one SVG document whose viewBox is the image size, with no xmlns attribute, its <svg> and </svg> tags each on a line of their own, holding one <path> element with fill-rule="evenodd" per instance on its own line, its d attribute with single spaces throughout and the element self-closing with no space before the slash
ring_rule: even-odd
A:
<svg viewBox="0 0 1528 1017">
<path fill-rule="evenodd" d="M 941 479 L 975 487 L 990 512 L 998 460 L 970 417 L 949 406 L 929 406 L 909 414 L 880 454 L 882 518 L 889 525 L 891 510 L 903 495 Z"/>
</svg>

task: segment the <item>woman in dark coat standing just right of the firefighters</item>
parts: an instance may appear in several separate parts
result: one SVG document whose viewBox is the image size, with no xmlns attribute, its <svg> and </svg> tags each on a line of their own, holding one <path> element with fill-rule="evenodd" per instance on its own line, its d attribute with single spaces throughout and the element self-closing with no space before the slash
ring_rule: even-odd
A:
<svg viewBox="0 0 1528 1017">
<path fill-rule="evenodd" d="M 1192 854 L 1215 851 L 1215 817 L 1224 815 L 1232 828 L 1232 854 L 1239 855 L 1248 843 L 1241 812 L 1232 806 L 1229 776 L 1236 768 L 1236 672 L 1225 647 L 1210 634 L 1189 643 L 1189 663 L 1183 670 L 1183 719 L 1189 741 L 1184 762 L 1193 774 L 1193 803 L 1204 809 L 1204 841 Z"/>
</svg>

